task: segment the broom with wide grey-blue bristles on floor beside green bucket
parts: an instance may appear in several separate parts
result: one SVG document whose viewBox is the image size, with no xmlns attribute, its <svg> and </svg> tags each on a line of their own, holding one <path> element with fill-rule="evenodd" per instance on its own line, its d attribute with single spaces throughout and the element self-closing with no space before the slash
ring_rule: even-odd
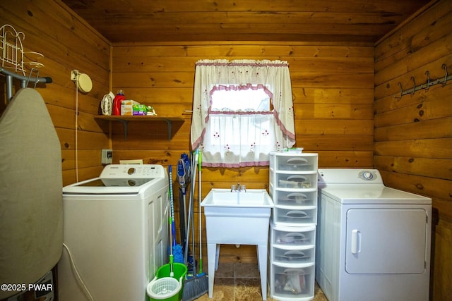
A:
<svg viewBox="0 0 452 301">
<path fill-rule="evenodd" d="M 195 160 L 198 161 L 198 169 L 199 169 L 199 202 L 201 204 L 201 153 L 198 152 L 198 150 L 196 149 L 196 156 L 195 156 Z M 199 219 L 200 219 L 200 223 L 201 223 L 201 211 L 199 211 Z M 201 224 L 200 224 L 200 231 L 201 231 Z M 201 237 L 199 238 L 200 244 L 201 244 Z M 184 301 L 192 301 L 195 299 L 198 299 L 198 297 L 201 297 L 202 295 L 208 293 L 209 290 L 209 283 L 208 283 L 208 278 L 207 275 L 205 273 L 202 273 L 202 250 L 201 250 L 201 245 L 199 247 L 200 251 L 199 251 L 199 264 L 200 264 L 200 274 L 196 274 L 196 264 L 194 264 L 193 266 L 193 277 L 186 279 L 185 284 L 184 284 L 184 293 L 182 295 L 182 300 Z"/>
</svg>

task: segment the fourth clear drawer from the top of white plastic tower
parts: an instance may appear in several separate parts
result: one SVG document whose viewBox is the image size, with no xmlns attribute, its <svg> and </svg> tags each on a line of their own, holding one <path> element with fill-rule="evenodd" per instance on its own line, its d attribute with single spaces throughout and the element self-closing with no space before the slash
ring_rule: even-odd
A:
<svg viewBox="0 0 452 301">
<path fill-rule="evenodd" d="M 317 223 L 317 207 L 281 207 L 273 208 L 273 222 L 285 226 L 309 226 Z"/>
</svg>

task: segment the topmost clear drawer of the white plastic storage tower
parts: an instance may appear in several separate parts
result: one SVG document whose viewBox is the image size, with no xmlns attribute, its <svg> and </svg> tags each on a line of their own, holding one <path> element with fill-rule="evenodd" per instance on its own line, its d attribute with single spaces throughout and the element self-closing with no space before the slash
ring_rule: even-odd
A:
<svg viewBox="0 0 452 301">
<path fill-rule="evenodd" d="M 275 154 L 270 166 L 278 171 L 316 171 L 317 154 Z"/>
</svg>

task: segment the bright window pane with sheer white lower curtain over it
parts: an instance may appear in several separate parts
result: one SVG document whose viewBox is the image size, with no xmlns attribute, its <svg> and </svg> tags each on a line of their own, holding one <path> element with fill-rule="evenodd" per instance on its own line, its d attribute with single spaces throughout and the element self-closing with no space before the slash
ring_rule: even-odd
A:
<svg viewBox="0 0 452 301">
<path fill-rule="evenodd" d="M 263 87 L 230 86 L 214 88 L 211 94 L 203 151 L 234 162 L 229 167 L 260 165 L 259 161 L 266 165 L 261 152 L 268 154 L 275 145 L 271 93 Z"/>
</svg>

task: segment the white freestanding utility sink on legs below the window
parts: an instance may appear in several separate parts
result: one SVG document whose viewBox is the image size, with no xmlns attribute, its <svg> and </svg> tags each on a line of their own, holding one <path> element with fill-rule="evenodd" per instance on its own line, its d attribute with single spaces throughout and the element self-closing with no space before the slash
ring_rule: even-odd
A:
<svg viewBox="0 0 452 301">
<path fill-rule="evenodd" d="M 201 202 L 206 216 L 209 298 L 220 245 L 257 245 L 262 299 L 267 298 L 268 228 L 273 200 L 265 189 L 212 189 Z"/>
</svg>

